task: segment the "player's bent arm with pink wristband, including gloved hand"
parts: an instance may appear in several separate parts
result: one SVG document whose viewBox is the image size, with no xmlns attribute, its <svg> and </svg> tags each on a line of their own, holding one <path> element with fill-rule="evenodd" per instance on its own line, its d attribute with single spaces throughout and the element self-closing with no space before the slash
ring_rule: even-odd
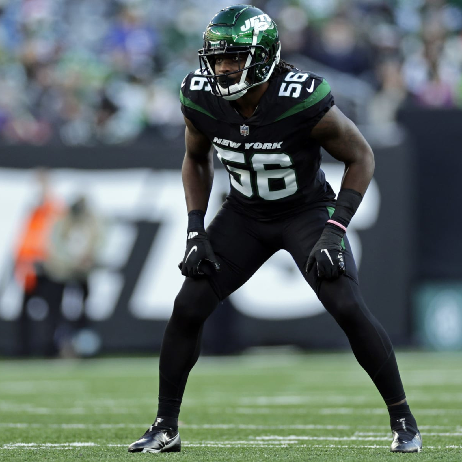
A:
<svg viewBox="0 0 462 462">
<path fill-rule="evenodd" d="M 374 154 L 358 127 L 335 106 L 316 124 L 310 137 L 345 164 L 334 213 L 326 222 L 305 267 L 308 274 L 316 263 L 319 277 L 335 279 L 346 271 L 342 239 L 371 182 Z"/>
</svg>

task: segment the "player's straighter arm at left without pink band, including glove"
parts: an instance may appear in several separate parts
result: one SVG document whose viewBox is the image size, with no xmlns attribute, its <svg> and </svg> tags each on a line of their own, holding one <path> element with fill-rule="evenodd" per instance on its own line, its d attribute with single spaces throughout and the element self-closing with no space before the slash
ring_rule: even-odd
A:
<svg viewBox="0 0 462 462">
<path fill-rule="evenodd" d="M 183 260 L 178 266 L 183 276 L 198 277 L 207 272 L 207 263 L 215 271 L 220 270 L 204 227 L 213 182 L 213 149 L 210 140 L 188 118 L 184 121 L 186 153 L 182 181 L 188 208 L 188 237 Z"/>
</svg>

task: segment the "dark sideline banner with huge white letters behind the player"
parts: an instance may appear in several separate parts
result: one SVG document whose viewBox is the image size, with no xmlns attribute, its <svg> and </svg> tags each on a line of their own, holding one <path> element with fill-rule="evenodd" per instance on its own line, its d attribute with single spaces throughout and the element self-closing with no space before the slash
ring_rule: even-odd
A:
<svg viewBox="0 0 462 462">
<path fill-rule="evenodd" d="M 7 147 L 0 168 L 0 353 L 18 352 L 21 294 L 11 276 L 15 239 L 34 202 L 34 167 L 50 169 L 54 193 L 70 201 L 85 192 L 105 221 L 100 265 L 90 279 L 87 316 L 103 353 L 157 352 L 183 277 L 187 214 L 181 182 L 182 139 L 130 146 Z M 411 339 L 409 287 L 413 274 L 412 152 L 407 143 L 375 148 L 376 173 L 348 228 L 369 309 L 395 345 Z M 215 159 L 216 160 L 216 159 Z M 343 164 L 322 164 L 336 192 Z M 229 190 L 216 162 L 206 221 Z M 45 332 L 46 319 L 34 329 Z M 34 334 L 34 333 L 32 333 Z M 34 334 L 35 335 L 35 334 Z M 37 334 L 38 335 L 38 334 Z M 38 335 L 37 338 L 39 338 Z M 37 340 L 38 341 L 38 340 Z M 204 329 L 204 353 L 249 346 L 347 346 L 290 255 L 279 252 L 220 304 Z"/>
</svg>

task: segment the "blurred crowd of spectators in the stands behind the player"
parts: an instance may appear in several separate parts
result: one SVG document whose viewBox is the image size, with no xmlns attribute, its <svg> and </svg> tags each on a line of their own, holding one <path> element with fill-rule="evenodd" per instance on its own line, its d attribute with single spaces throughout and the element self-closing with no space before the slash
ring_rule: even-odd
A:
<svg viewBox="0 0 462 462">
<path fill-rule="evenodd" d="M 1 142 L 168 136 L 182 124 L 179 85 L 198 67 L 207 21 L 231 3 L 0 0 Z M 462 106 L 462 0 L 253 4 L 278 24 L 286 61 L 304 55 L 371 85 L 370 123 L 394 120 L 402 104 Z"/>
</svg>

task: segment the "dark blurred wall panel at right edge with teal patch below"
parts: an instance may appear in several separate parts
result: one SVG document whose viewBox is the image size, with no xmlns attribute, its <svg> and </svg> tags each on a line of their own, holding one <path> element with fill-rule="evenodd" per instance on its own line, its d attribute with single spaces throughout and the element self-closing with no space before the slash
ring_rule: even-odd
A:
<svg viewBox="0 0 462 462">
<path fill-rule="evenodd" d="M 413 341 L 461 351 L 462 111 L 407 108 L 399 119 L 414 153 Z"/>
</svg>

